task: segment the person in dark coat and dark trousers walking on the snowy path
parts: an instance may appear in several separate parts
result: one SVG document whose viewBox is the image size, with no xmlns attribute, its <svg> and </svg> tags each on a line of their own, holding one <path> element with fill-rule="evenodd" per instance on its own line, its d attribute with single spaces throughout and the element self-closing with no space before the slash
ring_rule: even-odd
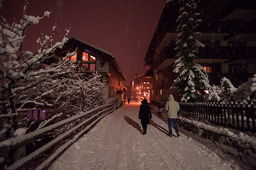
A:
<svg viewBox="0 0 256 170">
<path fill-rule="evenodd" d="M 149 125 L 149 120 L 151 120 L 151 110 L 149 103 L 146 101 L 146 98 L 142 101 L 142 105 L 139 107 L 139 119 L 142 123 L 143 135 L 146 134 L 147 125 Z"/>
</svg>

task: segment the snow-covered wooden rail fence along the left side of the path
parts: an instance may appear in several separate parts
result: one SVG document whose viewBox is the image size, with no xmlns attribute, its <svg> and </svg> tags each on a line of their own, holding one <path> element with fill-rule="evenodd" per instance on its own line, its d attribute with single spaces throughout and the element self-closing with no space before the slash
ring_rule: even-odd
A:
<svg viewBox="0 0 256 170">
<path fill-rule="evenodd" d="M 0 169 L 46 169 L 65 149 L 90 130 L 105 115 L 114 111 L 114 103 L 94 108 L 53 125 L 41 128 L 23 136 L 13 137 L 0 142 Z M 63 128 L 68 128 L 63 130 Z M 54 130 L 62 131 L 55 138 L 48 141 L 26 157 L 16 161 L 14 155 L 26 145 L 48 136 Z M 25 155 L 24 155 L 25 156 Z M 40 164 L 38 166 L 38 164 Z"/>
</svg>

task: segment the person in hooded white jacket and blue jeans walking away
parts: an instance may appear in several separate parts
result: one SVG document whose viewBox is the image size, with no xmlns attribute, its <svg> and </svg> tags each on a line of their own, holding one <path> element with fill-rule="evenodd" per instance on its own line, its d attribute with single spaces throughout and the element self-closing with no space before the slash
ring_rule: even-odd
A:
<svg viewBox="0 0 256 170">
<path fill-rule="evenodd" d="M 177 101 L 174 101 L 174 96 L 172 94 L 169 95 L 168 101 L 166 101 L 165 111 L 167 111 L 167 118 L 168 118 L 168 126 L 169 126 L 169 136 L 172 137 L 172 130 L 171 130 L 171 122 L 174 123 L 174 129 L 177 133 L 177 137 L 180 136 L 178 133 L 178 125 L 176 123 L 177 120 L 177 113 L 180 107 Z"/>
</svg>

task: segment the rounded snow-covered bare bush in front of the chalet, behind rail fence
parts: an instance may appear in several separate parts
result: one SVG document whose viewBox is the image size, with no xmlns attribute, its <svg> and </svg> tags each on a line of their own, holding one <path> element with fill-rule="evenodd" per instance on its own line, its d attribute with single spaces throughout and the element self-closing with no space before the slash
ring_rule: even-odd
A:
<svg viewBox="0 0 256 170">
<path fill-rule="evenodd" d="M 106 80 L 100 73 L 83 74 L 73 71 L 72 74 L 63 75 L 61 79 L 53 89 L 60 91 L 55 103 L 58 103 L 58 108 L 63 113 L 71 116 L 104 104 L 102 89 L 105 89 Z"/>
</svg>

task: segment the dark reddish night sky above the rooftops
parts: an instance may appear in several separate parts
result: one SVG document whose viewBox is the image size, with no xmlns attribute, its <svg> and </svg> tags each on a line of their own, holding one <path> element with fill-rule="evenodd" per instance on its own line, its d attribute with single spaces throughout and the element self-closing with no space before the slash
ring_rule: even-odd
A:
<svg viewBox="0 0 256 170">
<path fill-rule="evenodd" d="M 30 0 L 27 15 L 50 18 L 26 31 L 23 50 L 36 51 L 41 30 L 51 35 L 57 22 L 55 41 L 65 29 L 68 38 L 76 37 L 112 52 L 129 83 L 136 74 L 144 74 L 144 56 L 154 34 L 166 0 Z M 25 0 L 5 0 L 1 16 L 11 23 L 21 19 Z"/>
</svg>

